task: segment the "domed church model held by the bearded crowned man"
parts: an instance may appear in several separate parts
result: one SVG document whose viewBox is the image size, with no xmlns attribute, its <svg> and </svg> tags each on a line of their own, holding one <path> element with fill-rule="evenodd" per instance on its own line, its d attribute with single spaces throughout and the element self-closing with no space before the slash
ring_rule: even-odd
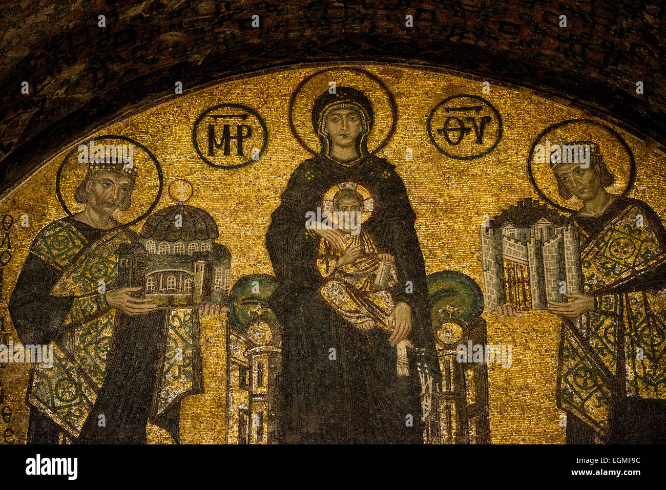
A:
<svg viewBox="0 0 666 490">
<path fill-rule="evenodd" d="M 145 286 L 145 297 L 160 306 L 224 304 L 231 254 L 215 242 L 219 230 L 200 208 L 180 202 L 147 218 L 138 244 L 116 254 L 119 286 Z"/>
</svg>

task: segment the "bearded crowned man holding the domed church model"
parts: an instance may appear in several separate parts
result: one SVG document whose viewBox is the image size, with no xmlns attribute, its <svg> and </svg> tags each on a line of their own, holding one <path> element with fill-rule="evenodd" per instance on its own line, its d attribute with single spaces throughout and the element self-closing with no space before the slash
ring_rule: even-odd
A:
<svg viewBox="0 0 666 490">
<path fill-rule="evenodd" d="M 23 344 L 53 346 L 53 364 L 31 367 L 28 443 L 146 443 L 149 420 L 178 441 L 180 405 L 157 410 L 167 310 L 118 284 L 117 250 L 141 244 L 113 215 L 131 206 L 138 172 L 91 158 L 83 211 L 33 240 L 9 313 Z"/>
</svg>

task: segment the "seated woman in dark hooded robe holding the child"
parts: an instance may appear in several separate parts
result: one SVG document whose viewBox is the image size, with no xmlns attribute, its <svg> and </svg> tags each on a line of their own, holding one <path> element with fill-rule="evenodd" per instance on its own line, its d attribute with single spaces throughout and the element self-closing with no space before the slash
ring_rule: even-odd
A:
<svg viewBox="0 0 666 490">
<path fill-rule="evenodd" d="M 312 109 L 322 149 L 294 170 L 266 233 L 278 286 L 269 304 L 283 326 L 278 437 L 283 443 L 422 443 L 430 389 L 439 367 L 430 326 L 426 270 L 416 215 L 395 166 L 368 152 L 373 110 L 360 91 L 337 87 Z M 364 230 L 394 258 L 398 287 L 386 328 L 360 328 L 327 304 L 317 254 L 327 240 L 351 250 L 344 232 L 306 228 L 320 197 L 357 182 L 374 196 Z M 396 346 L 409 341 L 408 375 L 396 371 Z M 404 345 L 404 342 L 402 342 Z M 430 381 L 430 383 L 428 383 Z M 422 403 L 423 402 L 423 403 Z"/>
</svg>

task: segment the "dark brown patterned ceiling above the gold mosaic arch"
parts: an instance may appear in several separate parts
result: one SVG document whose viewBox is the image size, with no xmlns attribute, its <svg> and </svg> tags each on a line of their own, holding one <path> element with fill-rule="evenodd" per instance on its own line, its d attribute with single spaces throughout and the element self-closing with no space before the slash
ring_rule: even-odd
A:
<svg viewBox="0 0 666 490">
<path fill-rule="evenodd" d="M 0 192 L 63 144 L 172 94 L 175 81 L 190 89 L 315 61 L 413 63 L 515 83 L 664 144 L 665 17 L 659 0 L 2 1 Z"/>
</svg>

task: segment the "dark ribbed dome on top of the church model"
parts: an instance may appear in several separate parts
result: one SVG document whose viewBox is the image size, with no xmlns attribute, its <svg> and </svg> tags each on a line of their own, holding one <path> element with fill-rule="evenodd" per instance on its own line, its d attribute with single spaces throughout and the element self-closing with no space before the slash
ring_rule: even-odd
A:
<svg viewBox="0 0 666 490">
<path fill-rule="evenodd" d="M 176 216 L 182 216 L 182 226 L 176 226 Z M 154 212 L 146 220 L 141 238 L 153 240 L 214 240 L 220 232 L 212 216 L 200 208 L 176 204 Z"/>
</svg>

